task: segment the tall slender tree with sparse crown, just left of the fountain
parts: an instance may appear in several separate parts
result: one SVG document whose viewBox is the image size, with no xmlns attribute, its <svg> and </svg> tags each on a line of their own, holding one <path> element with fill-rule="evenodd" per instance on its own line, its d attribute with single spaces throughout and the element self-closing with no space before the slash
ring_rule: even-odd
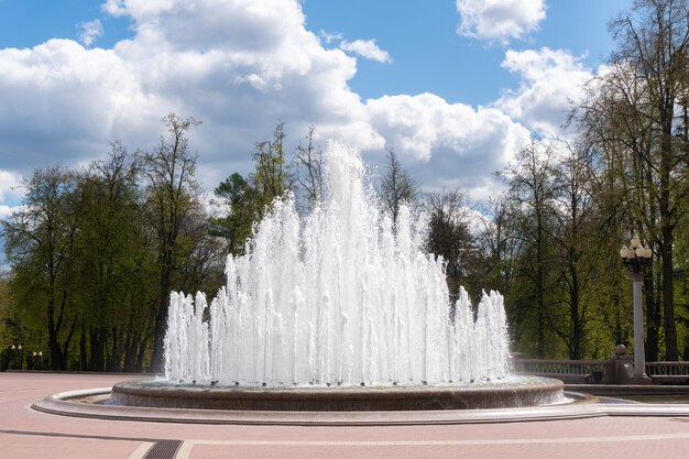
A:
<svg viewBox="0 0 689 459">
<path fill-rule="evenodd" d="M 154 308 L 154 342 L 152 368 L 162 368 L 163 339 L 167 326 L 167 310 L 173 277 L 179 269 L 185 249 L 185 222 L 198 205 L 194 179 L 196 156 L 188 150 L 188 132 L 200 124 L 194 118 L 169 113 L 163 118 L 167 133 L 158 145 L 143 157 L 143 173 L 147 178 L 146 210 L 156 233 L 160 300 Z"/>
</svg>

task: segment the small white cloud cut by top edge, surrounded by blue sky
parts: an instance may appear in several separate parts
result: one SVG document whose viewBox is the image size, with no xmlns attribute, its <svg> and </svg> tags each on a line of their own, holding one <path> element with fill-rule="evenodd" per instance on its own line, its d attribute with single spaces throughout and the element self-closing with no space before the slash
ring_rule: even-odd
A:
<svg viewBox="0 0 689 459">
<path fill-rule="evenodd" d="M 457 32 L 474 39 L 507 42 L 534 31 L 546 18 L 545 0 L 457 0 Z"/>
</svg>

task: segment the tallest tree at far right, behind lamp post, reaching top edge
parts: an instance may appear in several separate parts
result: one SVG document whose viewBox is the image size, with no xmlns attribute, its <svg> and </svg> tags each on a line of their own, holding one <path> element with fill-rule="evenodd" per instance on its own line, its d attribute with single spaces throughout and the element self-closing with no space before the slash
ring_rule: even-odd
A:
<svg viewBox="0 0 689 459">
<path fill-rule="evenodd" d="M 678 358 L 674 247 L 689 196 L 688 23 L 686 0 L 637 0 L 631 14 L 611 23 L 617 50 L 579 108 L 591 144 L 626 159 L 616 170 L 626 175 L 625 207 L 660 259 L 667 360 Z"/>
</svg>

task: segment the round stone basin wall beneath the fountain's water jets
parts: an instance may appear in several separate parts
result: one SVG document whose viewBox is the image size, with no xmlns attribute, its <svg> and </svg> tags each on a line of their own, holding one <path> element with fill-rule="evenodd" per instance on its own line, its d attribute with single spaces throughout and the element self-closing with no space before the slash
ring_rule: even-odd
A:
<svg viewBox="0 0 689 459">
<path fill-rule="evenodd" d="M 110 404 L 158 408 L 372 412 L 538 406 L 564 401 L 561 381 L 520 376 L 451 386 L 286 389 L 174 385 L 128 381 L 112 387 Z"/>
</svg>

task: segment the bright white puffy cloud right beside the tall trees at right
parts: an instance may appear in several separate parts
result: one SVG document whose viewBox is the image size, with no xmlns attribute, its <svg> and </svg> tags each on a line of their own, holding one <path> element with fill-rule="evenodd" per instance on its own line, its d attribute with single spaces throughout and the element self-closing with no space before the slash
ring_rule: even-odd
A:
<svg viewBox="0 0 689 459">
<path fill-rule="evenodd" d="M 581 57 L 564 50 L 508 50 L 502 66 L 521 77 L 516 90 L 505 91 L 495 102 L 511 117 L 546 136 L 557 136 L 582 96 L 582 85 L 593 77 Z"/>
</svg>

